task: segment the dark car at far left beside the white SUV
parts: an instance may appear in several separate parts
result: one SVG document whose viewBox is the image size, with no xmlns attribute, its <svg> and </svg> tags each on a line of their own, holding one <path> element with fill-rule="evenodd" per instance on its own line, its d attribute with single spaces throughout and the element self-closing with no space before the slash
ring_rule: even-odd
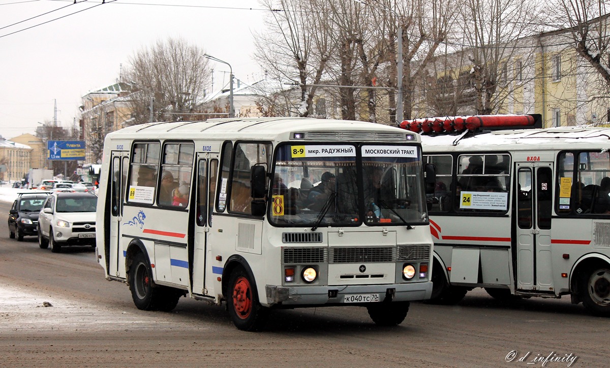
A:
<svg viewBox="0 0 610 368">
<path fill-rule="evenodd" d="M 38 214 L 47 194 L 20 194 L 9 211 L 9 238 L 38 236 Z"/>
</svg>

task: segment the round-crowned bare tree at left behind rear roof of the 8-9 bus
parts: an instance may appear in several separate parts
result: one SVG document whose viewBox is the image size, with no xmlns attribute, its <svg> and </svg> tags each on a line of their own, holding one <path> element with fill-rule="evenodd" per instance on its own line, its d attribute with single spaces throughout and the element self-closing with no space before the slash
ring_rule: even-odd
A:
<svg viewBox="0 0 610 368">
<path fill-rule="evenodd" d="M 202 48 L 180 38 L 157 41 L 135 52 L 125 73 L 128 83 L 139 90 L 131 99 L 134 123 L 149 121 L 151 99 L 154 120 L 191 119 L 210 82 L 211 69 L 204 54 Z"/>
</svg>

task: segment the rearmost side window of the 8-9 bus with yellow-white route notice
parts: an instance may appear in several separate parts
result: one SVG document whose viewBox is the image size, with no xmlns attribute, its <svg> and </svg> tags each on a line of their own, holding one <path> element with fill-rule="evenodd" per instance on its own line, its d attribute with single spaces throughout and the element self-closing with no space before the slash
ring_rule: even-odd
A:
<svg viewBox="0 0 610 368">
<path fill-rule="evenodd" d="M 128 202 L 154 202 L 159 170 L 159 143 L 135 143 L 129 177 Z"/>
</svg>

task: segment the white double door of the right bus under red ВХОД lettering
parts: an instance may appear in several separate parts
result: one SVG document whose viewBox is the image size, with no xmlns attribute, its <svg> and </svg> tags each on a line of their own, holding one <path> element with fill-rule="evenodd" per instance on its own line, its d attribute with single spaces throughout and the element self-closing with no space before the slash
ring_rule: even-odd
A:
<svg viewBox="0 0 610 368">
<path fill-rule="evenodd" d="M 517 289 L 553 291 L 552 163 L 517 163 Z"/>
</svg>

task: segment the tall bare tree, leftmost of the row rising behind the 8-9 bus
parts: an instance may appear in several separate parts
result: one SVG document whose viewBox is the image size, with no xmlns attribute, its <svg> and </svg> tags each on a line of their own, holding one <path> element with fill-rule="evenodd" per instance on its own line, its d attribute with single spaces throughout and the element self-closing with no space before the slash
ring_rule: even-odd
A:
<svg viewBox="0 0 610 368">
<path fill-rule="evenodd" d="M 326 69 L 326 63 L 334 51 L 334 43 L 328 29 L 327 0 L 264 0 L 262 5 L 270 10 L 267 33 L 255 37 L 259 63 L 273 79 L 280 83 L 298 86 L 300 96 L 296 105 L 285 99 L 285 108 L 274 105 L 263 110 L 284 110 L 286 115 L 307 116 L 311 111 L 316 85 Z M 277 104 L 277 100 L 273 103 Z"/>
</svg>

